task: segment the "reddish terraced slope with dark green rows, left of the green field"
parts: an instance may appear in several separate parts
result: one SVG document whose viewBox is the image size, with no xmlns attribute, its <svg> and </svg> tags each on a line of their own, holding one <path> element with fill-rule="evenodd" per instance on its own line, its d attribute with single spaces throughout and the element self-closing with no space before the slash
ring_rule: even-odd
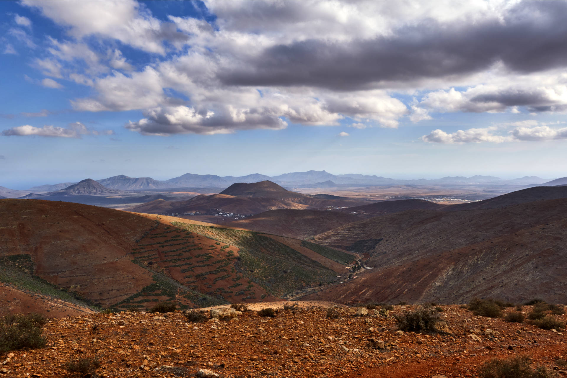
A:
<svg viewBox="0 0 567 378">
<path fill-rule="evenodd" d="M 114 307 L 144 308 L 172 300 L 188 308 L 269 296 L 263 287 L 238 274 L 234 267 L 238 248 L 231 245 L 159 221 L 136 243 L 133 262 L 152 273 L 153 283 Z"/>
</svg>

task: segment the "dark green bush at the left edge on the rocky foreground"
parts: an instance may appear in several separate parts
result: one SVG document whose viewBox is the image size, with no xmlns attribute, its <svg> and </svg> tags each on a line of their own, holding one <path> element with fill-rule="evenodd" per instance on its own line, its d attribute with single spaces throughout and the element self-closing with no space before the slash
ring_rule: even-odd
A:
<svg viewBox="0 0 567 378">
<path fill-rule="evenodd" d="M 45 346 L 41 328 L 48 320 L 37 314 L 7 315 L 0 318 L 0 353 Z"/>
</svg>

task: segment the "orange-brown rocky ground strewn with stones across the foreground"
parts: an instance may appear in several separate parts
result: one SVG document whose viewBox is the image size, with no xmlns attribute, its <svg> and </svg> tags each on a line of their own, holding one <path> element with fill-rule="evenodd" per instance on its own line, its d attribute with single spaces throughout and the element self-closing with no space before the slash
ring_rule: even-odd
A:
<svg viewBox="0 0 567 378">
<path fill-rule="evenodd" d="M 391 315 L 411 305 L 362 316 L 356 313 L 363 310 L 342 308 L 336 319 L 327 318 L 326 308 L 310 305 L 282 309 L 274 318 L 247 311 L 197 323 L 180 311 L 53 318 L 44 326 L 48 346 L 0 355 L 0 377 L 79 376 L 64 364 L 95 356 L 101 377 L 471 377 L 488 359 L 524 354 L 567 377 L 565 330 L 507 323 L 441 305 L 447 333 L 403 333 Z M 529 311 L 530 306 L 523 307 Z M 566 315 L 557 317 L 567 321 Z"/>
</svg>

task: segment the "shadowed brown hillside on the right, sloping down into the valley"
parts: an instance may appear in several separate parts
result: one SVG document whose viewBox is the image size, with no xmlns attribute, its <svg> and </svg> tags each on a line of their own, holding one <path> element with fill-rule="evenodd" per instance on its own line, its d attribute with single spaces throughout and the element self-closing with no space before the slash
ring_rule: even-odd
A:
<svg viewBox="0 0 567 378">
<path fill-rule="evenodd" d="M 316 243 L 369 253 L 359 278 L 308 299 L 513 301 L 567 295 L 567 199 L 504 209 L 412 210 L 347 224 L 315 236 Z"/>
</svg>

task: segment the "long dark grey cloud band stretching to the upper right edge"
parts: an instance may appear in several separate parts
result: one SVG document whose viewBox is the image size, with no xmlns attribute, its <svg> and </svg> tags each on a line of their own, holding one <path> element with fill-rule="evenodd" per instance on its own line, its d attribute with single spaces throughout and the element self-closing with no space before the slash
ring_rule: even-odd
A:
<svg viewBox="0 0 567 378">
<path fill-rule="evenodd" d="M 229 85 L 353 90 L 464 76 L 496 62 L 532 73 L 567 65 L 565 14 L 567 2 L 521 2 L 503 20 L 441 24 L 426 19 L 391 37 L 280 44 L 218 77 Z"/>
</svg>

